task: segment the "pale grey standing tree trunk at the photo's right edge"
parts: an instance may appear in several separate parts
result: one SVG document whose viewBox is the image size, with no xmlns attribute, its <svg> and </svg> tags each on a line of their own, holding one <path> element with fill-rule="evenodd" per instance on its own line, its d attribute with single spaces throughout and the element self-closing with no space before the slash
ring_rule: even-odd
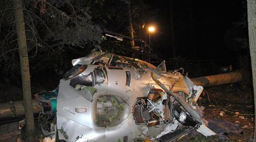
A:
<svg viewBox="0 0 256 142">
<path fill-rule="evenodd" d="M 247 14 L 248 14 L 249 46 L 250 46 L 250 54 L 251 54 L 251 70 L 253 75 L 254 114 L 256 114 L 256 1 L 255 0 L 247 0 Z M 256 142 L 255 115 L 254 115 L 253 142 Z"/>
</svg>

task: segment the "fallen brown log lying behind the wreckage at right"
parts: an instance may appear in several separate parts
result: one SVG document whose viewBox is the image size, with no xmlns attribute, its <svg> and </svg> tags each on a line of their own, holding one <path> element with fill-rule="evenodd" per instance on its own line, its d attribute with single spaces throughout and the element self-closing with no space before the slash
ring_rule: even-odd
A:
<svg viewBox="0 0 256 142">
<path fill-rule="evenodd" d="M 242 78 L 243 78 L 243 75 L 241 72 L 234 71 L 231 73 L 216 74 L 212 76 L 203 76 L 203 77 L 193 78 L 191 80 L 196 85 L 200 85 L 203 87 L 210 87 L 215 85 L 240 82 Z"/>
</svg>

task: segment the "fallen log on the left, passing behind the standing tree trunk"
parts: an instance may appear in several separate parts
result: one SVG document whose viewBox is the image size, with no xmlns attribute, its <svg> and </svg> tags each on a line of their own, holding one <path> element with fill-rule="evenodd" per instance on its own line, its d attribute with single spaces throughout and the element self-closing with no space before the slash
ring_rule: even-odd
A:
<svg viewBox="0 0 256 142">
<path fill-rule="evenodd" d="M 32 104 L 34 114 L 42 112 L 41 106 L 36 100 L 32 99 Z M 23 101 L 0 103 L 0 118 L 20 116 L 24 113 Z"/>
</svg>

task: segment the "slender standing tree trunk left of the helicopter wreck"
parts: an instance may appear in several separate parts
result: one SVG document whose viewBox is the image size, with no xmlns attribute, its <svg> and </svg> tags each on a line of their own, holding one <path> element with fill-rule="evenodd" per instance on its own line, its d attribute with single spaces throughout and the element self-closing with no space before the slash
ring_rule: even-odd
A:
<svg viewBox="0 0 256 142">
<path fill-rule="evenodd" d="M 31 97 L 30 74 L 28 63 L 28 49 L 25 34 L 22 0 L 14 0 L 15 24 L 19 46 L 19 60 L 21 65 L 21 78 L 23 101 L 25 108 L 26 133 L 34 131 L 34 116 Z"/>
</svg>

